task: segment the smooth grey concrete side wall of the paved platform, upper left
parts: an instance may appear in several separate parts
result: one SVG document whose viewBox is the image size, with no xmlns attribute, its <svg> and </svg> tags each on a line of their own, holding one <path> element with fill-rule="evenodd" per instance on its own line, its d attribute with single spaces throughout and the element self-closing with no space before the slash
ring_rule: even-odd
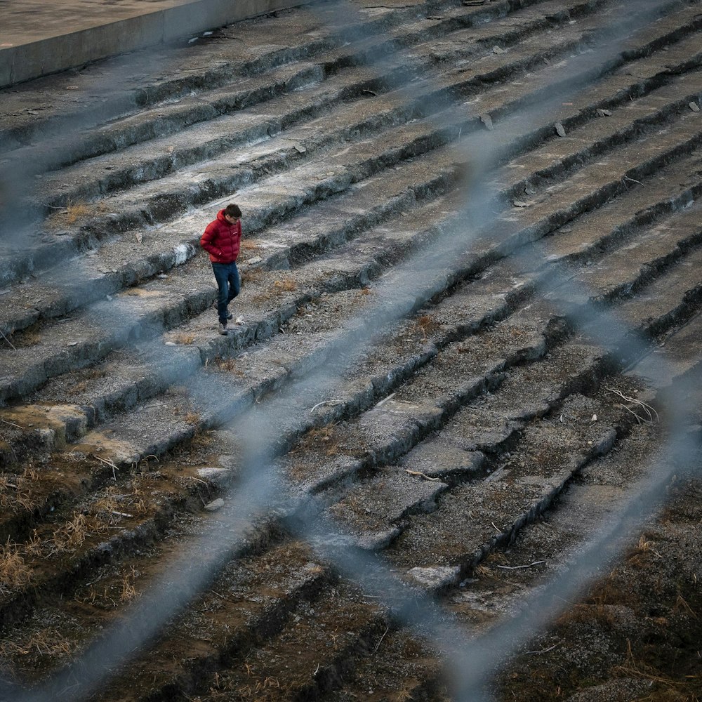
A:
<svg viewBox="0 0 702 702">
<path fill-rule="evenodd" d="M 75 32 L 0 48 L 0 88 L 207 29 L 305 5 L 310 0 L 191 0 Z M 101 15 L 104 17 L 104 13 Z M 29 15 L 36 22 L 35 13 Z"/>
</svg>

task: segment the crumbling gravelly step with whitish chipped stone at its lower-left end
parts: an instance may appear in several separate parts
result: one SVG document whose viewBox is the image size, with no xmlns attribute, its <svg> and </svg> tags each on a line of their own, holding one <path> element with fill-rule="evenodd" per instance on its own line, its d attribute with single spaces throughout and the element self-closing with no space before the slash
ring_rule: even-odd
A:
<svg viewBox="0 0 702 702">
<path fill-rule="evenodd" d="M 616 439 L 621 411 L 571 395 L 559 413 L 569 421 L 559 421 L 556 413 L 524 427 L 510 461 L 491 477 L 454 487 L 437 512 L 410 517 L 385 551 L 389 562 L 425 587 L 445 588 L 461 581 L 498 544 L 509 543 Z M 465 439 L 470 442 L 470 433 Z"/>
</svg>

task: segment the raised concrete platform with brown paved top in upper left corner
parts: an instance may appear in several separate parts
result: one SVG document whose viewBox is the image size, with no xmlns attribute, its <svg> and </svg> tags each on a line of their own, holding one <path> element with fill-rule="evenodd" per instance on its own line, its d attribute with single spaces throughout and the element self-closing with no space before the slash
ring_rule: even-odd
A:
<svg viewBox="0 0 702 702">
<path fill-rule="evenodd" d="M 291 0 L 3 0 L 0 87 L 185 37 Z"/>
</svg>

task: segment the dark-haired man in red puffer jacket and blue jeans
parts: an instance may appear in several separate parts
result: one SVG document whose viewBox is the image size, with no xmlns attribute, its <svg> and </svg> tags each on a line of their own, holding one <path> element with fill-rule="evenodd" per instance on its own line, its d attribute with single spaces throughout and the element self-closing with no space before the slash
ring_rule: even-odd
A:
<svg viewBox="0 0 702 702">
<path fill-rule="evenodd" d="M 227 320 L 232 319 L 227 306 L 239 294 L 241 279 L 237 270 L 237 256 L 241 246 L 241 210 L 229 204 L 217 213 L 200 237 L 200 246 L 210 255 L 212 270 L 217 281 L 217 315 L 219 333 L 227 333 Z"/>
</svg>

